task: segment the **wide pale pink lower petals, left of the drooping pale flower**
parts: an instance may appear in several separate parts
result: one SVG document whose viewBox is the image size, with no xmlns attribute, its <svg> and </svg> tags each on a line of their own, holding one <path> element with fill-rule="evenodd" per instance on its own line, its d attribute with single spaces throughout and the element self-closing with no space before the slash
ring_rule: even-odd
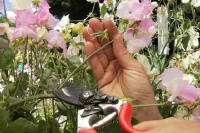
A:
<svg viewBox="0 0 200 133">
<path fill-rule="evenodd" d="M 37 31 L 35 27 L 31 26 L 22 26 L 15 29 L 14 33 L 10 37 L 10 40 L 14 40 L 16 38 L 31 37 L 33 39 L 37 38 Z"/>
</svg>

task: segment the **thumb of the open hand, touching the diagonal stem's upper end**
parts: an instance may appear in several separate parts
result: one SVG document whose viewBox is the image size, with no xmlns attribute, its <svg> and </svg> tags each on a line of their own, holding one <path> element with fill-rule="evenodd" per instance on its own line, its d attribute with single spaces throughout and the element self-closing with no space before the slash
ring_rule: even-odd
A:
<svg viewBox="0 0 200 133">
<path fill-rule="evenodd" d="M 122 67 L 127 68 L 131 65 L 134 65 L 134 62 L 136 60 L 129 54 L 128 50 L 125 48 L 122 36 L 120 34 L 117 34 L 114 37 L 113 52 Z"/>
</svg>

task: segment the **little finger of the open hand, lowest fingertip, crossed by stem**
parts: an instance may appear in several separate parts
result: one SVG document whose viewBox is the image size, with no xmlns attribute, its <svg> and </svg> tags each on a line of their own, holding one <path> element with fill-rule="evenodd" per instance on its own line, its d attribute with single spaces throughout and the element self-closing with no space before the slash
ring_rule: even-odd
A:
<svg viewBox="0 0 200 133">
<path fill-rule="evenodd" d="M 86 42 L 84 50 L 85 50 L 86 55 L 89 56 L 93 51 L 95 51 L 95 47 L 93 43 Z M 93 57 L 90 58 L 89 63 L 92 67 L 96 80 L 97 81 L 100 80 L 104 75 L 104 68 L 102 66 L 100 59 L 98 58 L 97 55 L 94 55 Z"/>
</svg>

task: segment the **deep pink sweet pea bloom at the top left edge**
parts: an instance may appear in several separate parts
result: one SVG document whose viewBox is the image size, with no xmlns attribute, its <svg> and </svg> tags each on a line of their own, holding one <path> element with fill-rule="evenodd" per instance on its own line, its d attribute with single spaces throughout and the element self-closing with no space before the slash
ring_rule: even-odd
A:
<svg viewBox="0 0 200 133">
<path fill-rule="evenodd" d="M 49 12 L 48 3 L 43 0 L 40 4 L 40 9 L 36 13 L 36 23 L 39 26 L 47 26 L 49 28 L 53 28 L 57 20 L 53 17 L 53 15 Z"/>
</svg>

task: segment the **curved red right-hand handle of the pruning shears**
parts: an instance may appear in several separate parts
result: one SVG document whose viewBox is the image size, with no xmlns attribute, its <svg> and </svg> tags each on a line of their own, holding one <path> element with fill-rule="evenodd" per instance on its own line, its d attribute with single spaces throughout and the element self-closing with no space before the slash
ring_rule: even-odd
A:
<svg viewBox="0 0 200 133">
<path fill-rule="evenodd" d="M 124 133 L 141 132 L 133 128 L 131 124 L 131 118 L 132 118 L 132 105 L 130 103 L 122 104 L 119 112 L 119 125 L 122 131 Z"/>
</svg>

